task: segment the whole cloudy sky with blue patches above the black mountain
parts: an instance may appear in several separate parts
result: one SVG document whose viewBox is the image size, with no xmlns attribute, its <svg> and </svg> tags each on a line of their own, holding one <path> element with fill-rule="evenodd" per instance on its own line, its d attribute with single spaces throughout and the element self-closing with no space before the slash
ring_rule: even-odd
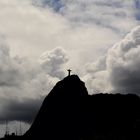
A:
<svg viewBox="0 0 140 140">
<path fill-rule="evenodd" d="M 90 94 L 139 95 L 139 9 L 140 0 L 0 0 L 0 136 L 5 120 L 30 124 L 68 68 Z"/>
</svg>

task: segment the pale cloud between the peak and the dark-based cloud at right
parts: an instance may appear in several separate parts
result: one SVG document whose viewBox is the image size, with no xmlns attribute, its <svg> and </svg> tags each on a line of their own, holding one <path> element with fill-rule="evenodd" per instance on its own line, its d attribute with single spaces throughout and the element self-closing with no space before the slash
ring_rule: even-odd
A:
<svg viewBox="0 0 140 140">
<path fill-rule="evenodd" d="M 108 79 L 108 71 L 106 70 L 106 57 L 100 57 L 93 63 L 85 66 L 86 72 L 83 74 L 83 80 L 90 94 L 110 91 L 110 82 Z"/>
</svg>

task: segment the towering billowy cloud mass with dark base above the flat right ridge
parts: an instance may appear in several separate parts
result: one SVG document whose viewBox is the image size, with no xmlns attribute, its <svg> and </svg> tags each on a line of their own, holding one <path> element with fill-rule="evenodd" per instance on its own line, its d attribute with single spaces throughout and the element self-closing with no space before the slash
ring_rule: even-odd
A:
<svg viewBox="0 0 140 140">
<path fill-rule="evenodd" d="M 140 26 L 108 50 L 105 57 L 87 66 L 85 80 L 100 92 L 140 93 Z M 92 80 L 90 79 L 92 77 Z"/>
</svg>

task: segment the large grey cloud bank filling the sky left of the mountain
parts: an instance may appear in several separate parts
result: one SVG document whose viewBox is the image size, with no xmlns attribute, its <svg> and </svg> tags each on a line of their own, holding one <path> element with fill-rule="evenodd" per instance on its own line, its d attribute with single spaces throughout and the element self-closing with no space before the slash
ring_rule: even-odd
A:
<svg viewBox="0 0 140 140">
<path fill-rule="evenodd" d="M 31 123 L 45 96 L 64 77 L 63 65 L 68 61 L 64 49 L 58 47 L 43 53 L 39 62 L 10 55 L 6 39 L 0 38 L 0 122 Z"/>
</svg>

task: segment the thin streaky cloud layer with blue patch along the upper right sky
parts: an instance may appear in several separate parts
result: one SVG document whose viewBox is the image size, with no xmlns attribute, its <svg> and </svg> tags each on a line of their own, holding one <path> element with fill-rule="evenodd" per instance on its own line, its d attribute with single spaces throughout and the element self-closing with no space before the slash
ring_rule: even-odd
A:
<svg viewBox="0 0 140 140">
<path fill-rule="evenodd" d="M 128 28 L 133 27 L 135 22 L 135 1 L 40 0 L 37 2 L 33 0 L 33 2 L 42 7 L 51 7 L 74 23 L 94 23 L 116 32 L 127 31 Z"/>
</svg>

